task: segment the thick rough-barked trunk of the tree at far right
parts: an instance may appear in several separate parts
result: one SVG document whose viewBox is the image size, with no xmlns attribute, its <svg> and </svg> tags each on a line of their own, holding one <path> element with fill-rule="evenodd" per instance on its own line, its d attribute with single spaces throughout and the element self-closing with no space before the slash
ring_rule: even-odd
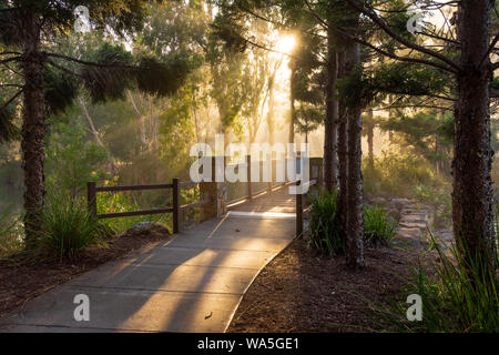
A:
<svg viewBox="0 0 499 355">
<path fill-rule="evenodd" d="M 490 1 L 464 0 L 459 14 L 461 68 L 456 103 L 455 159 L 452 163 L 452 222 L 459 250 L 468 261 L 481 256 L 492 266 L 492 229 L 489 88 L 492 69 L 487 54 Z M 497 265 L 493 265 L 497 266 Z"/>
</svg>

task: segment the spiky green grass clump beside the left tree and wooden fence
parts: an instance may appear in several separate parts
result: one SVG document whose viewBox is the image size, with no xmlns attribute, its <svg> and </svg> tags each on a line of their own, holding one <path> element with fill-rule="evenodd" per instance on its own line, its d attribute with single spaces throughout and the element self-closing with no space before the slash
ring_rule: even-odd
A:
<svg viewBox="0 0 499 355">
<path fill-rule="evenodd" d="M 39 250 L 61 260 L 77 257 L 106 233 L 106 229 L 88 212 L 83 201 L 69 196 L 50 196 L 41 219 L 43 231 L 38 237 Z"/>
</svg>

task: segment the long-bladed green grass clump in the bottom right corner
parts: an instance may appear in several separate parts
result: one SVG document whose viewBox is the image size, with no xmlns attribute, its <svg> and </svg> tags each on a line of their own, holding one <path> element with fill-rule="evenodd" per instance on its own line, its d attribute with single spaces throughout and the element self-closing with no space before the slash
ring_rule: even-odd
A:
<svg viewBox="0 0 499 355">
<path fill-rule="evenodd" d="M 381 312 L 396 327 L 408 332 L 499 332 L 499 274 L 482 258 L 465 262 L 456 248 L 447 256 L 438 244 L 440 263 L 425 272 L 419 266 L 406 287 L 404 301 Z M 497 254 L 493 256 L 497 261 Z M 422 321 L 406 320 L 405 297 L 418 294 L 422 300 Z"/>
</svg>

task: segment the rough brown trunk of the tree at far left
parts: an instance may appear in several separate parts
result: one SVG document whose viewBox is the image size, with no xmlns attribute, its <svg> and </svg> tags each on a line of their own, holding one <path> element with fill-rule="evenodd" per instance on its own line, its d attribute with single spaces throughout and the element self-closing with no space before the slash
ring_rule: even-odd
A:
<svg viewBox="0 0 499 355">
<path fill-rule="evenodd" d="M 24 108 L 21 149 L 24 171 L 24 230 L 26 247 L 34 246 L 42 229 L 40 213 L 43 209 L 45 103 L 43 82 L 43 54 L 40 50 L 40 32 L 34 16 L 28 17 L 27 29 L 31 36 L 24 43 L 22 71 L 24 75 Z"/>
</svg>

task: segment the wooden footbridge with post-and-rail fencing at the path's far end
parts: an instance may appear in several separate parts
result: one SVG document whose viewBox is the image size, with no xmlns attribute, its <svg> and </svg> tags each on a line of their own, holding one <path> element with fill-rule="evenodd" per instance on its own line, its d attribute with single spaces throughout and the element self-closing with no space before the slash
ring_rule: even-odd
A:
<svg viewBox="0 0 499 355">
<path fill-rule="evenodd" d="M 215 181 L 215 161 L 212 159 L 212 180 Z M 299 158 L 296 160 L 298 164 Z M 232 193 L 232 196 L 227 193 L 228 183 L 216 183 L 216 182 L 181 182 L 180 179 L 173 179 L 171 184 L 156 184 L 156 185 L 135 185 L 135 186 L 104 186 L 98 187 L 94 182 L 88 183 L 88 203 L 89 211 L 99 219 L 116 219 L 116 217 L 129 217 L 138 215 L 152 215 L 152 214 L 166 214 L 171 213 L 173 215 L 173 233 L 177 234 L 181 232 L 184 225 L 183 215 L 185 212 L 192 209 L 201 209 L 200 221 L 205 222 L 213 217 L 220 217 L 232 212 L 232 215 L 261 215 L 261 216 L 291 216 L 296 215 L 296 235 L 303 233 L 303 211 L 306 207 L 307 193 L 299 195 L 289 194 L 286 192 L 288 185 L 302 184 L 301 180 L 278 182 L 277 181 L 277 166 L 278 164 L 285 165 L 285 163 L 295 164 L 294 161 L 277 161 L 273 160 L 269 164 L 271 182 L 261 181 L 264 180 L 264 161 L 253 162 L 251 156 L 246 158 L 246 162 L 243 164 L 233 164 L 240 166 L 238 169 L 246 169 L 247 182 L 240 183 L 240 191 Z M 268 166 L 267 166 L 268 168 Z M 309 182 L 306 182 L 309 187 L 320 185 L 323 180 L 323 160 L 322 159 L 310 159 L 309 160 Z M 252 181 L 252 171 L 259 171 L 259 176 L 257 181 Z M 284 172 L 286 174 L 286 172 Z M 258 187 L 255 189 L 255 184 Z M 233 184 L 234 185 L 234 184 Z M 262 189 L 263 186 L 263 189 Z M 200 199 L 195 202 L 190 202 L 187 204 L 182 204 L 181 191 L 182 189 L 194 189 L 198 192 Z M 171 190 L 172 191 L 172 206 L 162 207 L 149 211 L 134 211 L 134 212 L 121 212 L 121 213 L 108 213 L 100 214 L 96 206 L 96 194 L 98 193 L 119 193 L 128 191 L 150 191 L 150 190 Z M 232 189 L 234 190 L 234 189 Z M 241 193 L 243 190 L 243 193 Z"/>
</svg>

